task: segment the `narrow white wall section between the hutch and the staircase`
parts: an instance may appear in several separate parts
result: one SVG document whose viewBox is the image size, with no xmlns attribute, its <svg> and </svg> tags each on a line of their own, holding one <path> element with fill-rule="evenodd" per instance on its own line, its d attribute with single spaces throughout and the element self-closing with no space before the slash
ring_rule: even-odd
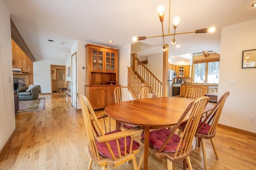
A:
<svg viewBox="0 0 256 170">
<path fill-rule="evenodd" d="M 128 68 L 131 66 L 131 45 L 127 44 L 119 49 L 119 84 L 121 86 L 127 86 Z"/>
</svg>

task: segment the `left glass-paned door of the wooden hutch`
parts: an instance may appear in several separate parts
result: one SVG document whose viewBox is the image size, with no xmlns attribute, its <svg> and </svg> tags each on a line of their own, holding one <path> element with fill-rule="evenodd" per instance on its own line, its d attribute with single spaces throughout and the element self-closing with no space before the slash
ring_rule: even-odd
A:
<svg viewBox="0 0 256 170">
<path fill-rule="evenodd" d="M 92 49 L 92 70 L 103 70 L 103 51 Z"/>
</svg>

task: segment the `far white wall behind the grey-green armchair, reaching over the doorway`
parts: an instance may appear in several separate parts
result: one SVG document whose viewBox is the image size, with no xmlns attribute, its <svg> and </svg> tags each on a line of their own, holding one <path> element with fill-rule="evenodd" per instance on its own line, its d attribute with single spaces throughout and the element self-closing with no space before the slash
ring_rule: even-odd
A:
<svg viewBox="0 0 256 170">
<path fill-rule="evenodd" d="M 33 62 L 34 84 L 41 86 L 42 93 L 51 93 L 51 64 L 66 65 L 65 61 L 57 60 L 35 59 L 35 62 Z"/>
</svg>

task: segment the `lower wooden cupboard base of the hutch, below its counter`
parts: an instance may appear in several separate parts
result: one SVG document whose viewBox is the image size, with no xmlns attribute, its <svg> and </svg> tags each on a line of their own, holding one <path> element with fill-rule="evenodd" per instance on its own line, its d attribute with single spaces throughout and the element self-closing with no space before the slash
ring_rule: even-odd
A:
<svg viewBox="0 0 256 170">
<path fill-rule="evenodd" d="M 105 108 L 115 103 L 114 89 L 118 86 L 85 86 L 85 96 L 90 101 L 93 109 Z"/>
</svg>

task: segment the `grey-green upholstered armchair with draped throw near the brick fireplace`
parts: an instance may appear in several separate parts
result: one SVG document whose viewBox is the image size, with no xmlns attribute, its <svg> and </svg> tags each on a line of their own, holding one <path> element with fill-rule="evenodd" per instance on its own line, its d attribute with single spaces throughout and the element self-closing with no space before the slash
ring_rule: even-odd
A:
<svg viewBox="0 0 256 170">
<path fill-rule="evenodd" d="M 34 100 L 38 98 L 39 92 L 40 86 L 32 84 L 19 88 L 17 95 L 19 96 L 19 100 Z"/>
</svg>

